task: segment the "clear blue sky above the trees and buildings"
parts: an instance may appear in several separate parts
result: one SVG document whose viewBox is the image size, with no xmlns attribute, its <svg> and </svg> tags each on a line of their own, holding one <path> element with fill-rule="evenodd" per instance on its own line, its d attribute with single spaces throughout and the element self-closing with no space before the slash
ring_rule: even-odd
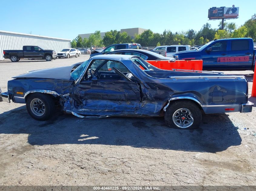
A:
<svg viewBox="0 0 256 191">
<path fill-rule="evenodd" d="M 198 31 L 207 22 L 218 28 L 221 20 L 208 21 L 209 8 L 232 5 L 239 7 L 239 18 L 227 22 L 237 27 L 256 13 L 256 0 L 9 0 L 0 6 L 0 30 L 71 40 L 95 30 L 136 27 Z"/>
</svg>

